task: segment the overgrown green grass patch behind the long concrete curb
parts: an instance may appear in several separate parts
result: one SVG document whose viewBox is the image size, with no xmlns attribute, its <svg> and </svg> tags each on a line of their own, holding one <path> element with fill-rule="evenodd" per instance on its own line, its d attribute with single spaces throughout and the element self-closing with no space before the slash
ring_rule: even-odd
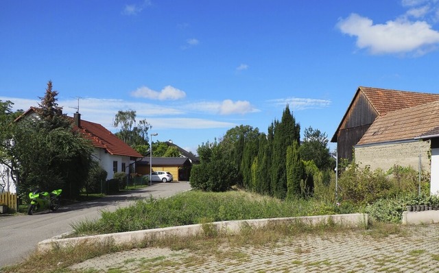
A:
<svg viewBox="0 0 439 273">
<path fill-rule="evenodd" d="M 351 213 L 353 210 L 353 206 L 336 206 L 317 200 L 281 201 L 244 191 L 188 191 L 167 199 L 140 200 L 115 212 L 104 211 L 97 221 L 84 220 L 72 228 L 75 235 L 91 235 L 200 224 L 206 219 L 217 222 Z"/>
</svg>

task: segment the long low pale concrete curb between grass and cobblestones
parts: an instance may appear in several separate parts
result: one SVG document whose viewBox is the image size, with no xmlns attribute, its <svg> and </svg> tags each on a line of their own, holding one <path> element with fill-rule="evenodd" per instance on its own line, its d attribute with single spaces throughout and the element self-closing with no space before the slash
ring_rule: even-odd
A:
<svg viewBox="0 0 439 273">
<path fill-rule="evenodd" d="M 346 227 L 361 227 L 368 223 L 368 215 L 365 213 L 351 213 L 340 215 L 321 215 L 305 217 L 286 217 L 270 219 L 250 219 L 240 221 L 213 222 L 212 225 L 216 230 L 224 230 L 228 233 L 238 233 L 242 227 L 250 226 L 252 228 L 261 228 L 268 224 L 309 224 L 316 226 L 318 224 L 327 224 L 332 222 Z M 173 226 L 169 228 L 155 228 L 150 230 L 136 230 L 125 233 L 110 233 L 104 235 L 93 235 L 86 237 L 75 237 L 59 239 L 57 237 L 40 241 L 38 250 L 47 251 L 53 248 L 64 248 L 84 243 L 104 243 L 113 241 L 115 244 L 130 244 L 139 241 L 151 241 L 154 239 L 178 236 L 185 237 L 203 233 L 203 226 L 206 224 L 193 224 L 188 226 Z"/>
</svg>

